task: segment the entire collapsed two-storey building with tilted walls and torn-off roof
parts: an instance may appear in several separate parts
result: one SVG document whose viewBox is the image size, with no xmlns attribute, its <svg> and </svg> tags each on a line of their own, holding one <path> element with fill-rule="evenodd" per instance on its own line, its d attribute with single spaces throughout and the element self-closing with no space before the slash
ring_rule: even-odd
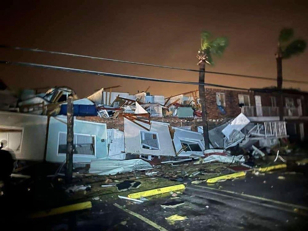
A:
<svg viewBox="0 0 308 231">
<path fill-rule="evenodd" d="M 2 84 L 3 85 L 3 84 Z M 21 160 L 62 163 L 66 152 L 67 96 L 74 97 L 74 162 L 198 157 L 211 148 L 277 145 L 279 139 L 305 141 L 306 92 L 205 89 L 209 141 L 204 141 L 198 90 L 165 97 L 147 90 L 135 95 L 101 88 L 79 99 L 68 87 L 16 95 L 3 85 L 0 140 Z M 283 121 L 279 102 L 283 100 Z"/>
</svg>

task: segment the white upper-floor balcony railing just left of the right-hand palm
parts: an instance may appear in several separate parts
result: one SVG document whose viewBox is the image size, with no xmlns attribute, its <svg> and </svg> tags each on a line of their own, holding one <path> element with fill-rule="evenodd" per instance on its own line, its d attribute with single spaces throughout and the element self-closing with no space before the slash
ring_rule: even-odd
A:
<svg viewBox="0 0 308 231">
<path fill-rule="evenodd" d="M 242 106 L 242 112 L 247 117 L 279 116 L 279 107 L 258 107 L 257 109 L 254 106 Z"/>
</svg>

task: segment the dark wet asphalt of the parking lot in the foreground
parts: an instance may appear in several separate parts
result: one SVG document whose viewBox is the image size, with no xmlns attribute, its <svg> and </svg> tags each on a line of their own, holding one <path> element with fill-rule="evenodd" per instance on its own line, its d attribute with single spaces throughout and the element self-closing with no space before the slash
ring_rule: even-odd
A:
<svg viewBox="0 0 308 231">
<path fill-rule="evenodd" d="M 308 178 L 301 173 L 248 173 L 243 178 L 213 185 L 185 183 L 184 193 L 173 199 L 185 201 L 177 208 L 160 206 L 173 201 L 170 195 L 139 205 L 121 199 L 92 201 L 92 209 L 34 219 L 24 225 L 44 230 L 306 230 L 308 225 Z M 158 226 L 147 224 L 113 203 L 125 205 Z M 173 214 L 188 219 L 170 225 L 165 217 Z"/>
</svg>

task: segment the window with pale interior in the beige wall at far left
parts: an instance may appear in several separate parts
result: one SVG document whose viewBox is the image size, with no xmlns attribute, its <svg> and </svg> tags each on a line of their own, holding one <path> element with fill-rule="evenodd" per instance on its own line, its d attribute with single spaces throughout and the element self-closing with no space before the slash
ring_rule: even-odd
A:
<svg viewBox="0 0 308 231">
<path fill-rule="evenodd" d="M 0 142 L 2 149 L 20 152 L 22 141 L 22 128 L 0 128 Z"/>
</svg>

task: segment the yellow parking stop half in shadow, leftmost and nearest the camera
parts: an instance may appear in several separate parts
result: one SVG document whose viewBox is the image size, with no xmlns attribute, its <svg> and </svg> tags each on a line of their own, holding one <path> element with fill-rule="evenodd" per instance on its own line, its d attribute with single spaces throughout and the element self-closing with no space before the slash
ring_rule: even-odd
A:
<svg viewBox="0 0 308 231">
<path fill-rule="evenodd" d="M 82 203 L 77 203 L 73 205 L 66 205 L 62 206 L 59 208 L 55 209 L 50 209 L 46 211 L 39 211 L 36 213 L 30 214 L 30 218 L 39 218 L 39 217 L 48 217 L 48 216 L 53 216 L 53 215 L 58 215 L 62 213 L 68 213 L 72 211 L 77 211 L 77 210 L 83 210 L 83 209 L 90 209 L 92 208 L 92 203 L 91 201 L 86 201 Z"/>
</svg>

